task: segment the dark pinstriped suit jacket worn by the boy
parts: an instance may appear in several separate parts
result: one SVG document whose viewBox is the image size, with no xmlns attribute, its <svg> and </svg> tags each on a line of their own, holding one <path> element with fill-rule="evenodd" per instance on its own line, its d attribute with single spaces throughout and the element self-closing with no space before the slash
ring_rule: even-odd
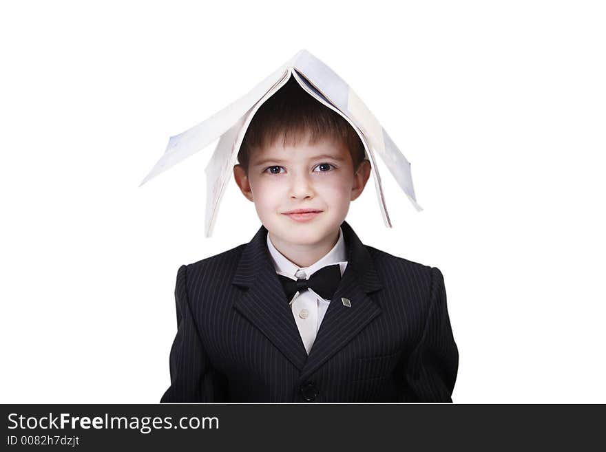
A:
<svg viewBox="0 0 606 452">
<path fill-rule="evenodd" d="M 160 401 L 452 401 L 459 354 L 440 270 L 342 229 L 348 265 L 309 356 L 264 226 L 249 244 L 181 266 L 171 386 Z"/>
</svg>

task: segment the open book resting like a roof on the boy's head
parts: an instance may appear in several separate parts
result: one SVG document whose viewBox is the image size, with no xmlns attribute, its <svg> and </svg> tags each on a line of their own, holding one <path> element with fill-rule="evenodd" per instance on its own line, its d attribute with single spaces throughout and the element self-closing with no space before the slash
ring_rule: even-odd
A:
<svg viewBox="0 0 606 452">
<path fill-rule="evenodd" d="M 417 211 L 421 211 L 421 206 L 417 204 L 415 197 L 415 189 L 412 186 L 410 162 L 402 155 L 375 116 L 353 92 L 353 89 L 330 67 L 306 50 L 297 52 L 293 58 L 231 105 L 191 129 L 171 137 L 162 158 L 158 160 L 139 186 L 204 149 L 220 137 L 205 170 L 207 175 L 205 231 L 206 236 L 210 237 L 221 198 L 231 179 L 233 165 L 238 160 L 240 144 L 242 144 L 244 134 L 253 116 L 259 107 L 284 86 L 291 77 L 295 78 L 302 89 L 315 100 L 342 116 L 359 135 L 364 144 L 366 158 L 370 160 L 379 207 L 385 225 L 391 227 L 391 222 L 375 153 L 382 158 L 412 205 Z"/>
</svg>

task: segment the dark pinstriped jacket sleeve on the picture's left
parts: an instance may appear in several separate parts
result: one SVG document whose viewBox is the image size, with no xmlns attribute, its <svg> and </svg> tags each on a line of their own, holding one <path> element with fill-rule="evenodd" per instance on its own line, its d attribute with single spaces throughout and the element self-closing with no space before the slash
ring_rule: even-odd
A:
<svg viewBox="0 0 606 452">
<path fill-rule="evenodd" d="M 177 272 L 177 335 L 170 352 L 171 385 L 160 402 L 214 402 L 213 369 L 205 352 L 187 293 L 187 266 Z"/>
</svg>

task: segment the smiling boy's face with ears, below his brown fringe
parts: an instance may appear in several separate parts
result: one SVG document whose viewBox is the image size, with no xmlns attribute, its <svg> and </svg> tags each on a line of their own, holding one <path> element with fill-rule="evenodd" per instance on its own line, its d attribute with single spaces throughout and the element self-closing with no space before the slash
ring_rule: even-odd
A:
<svg viewBox="0 0 606 452">
<path fill-rule="evenodd" d="M 248 173 L 233 168 L 236 183 L 255 209 L 263 226 L 282 246 L 315 247 L 335 244 L 349 203 L 364 190 L 370 163 L 364 160 L 354 174 L 344 144 L 321 140 L 284 147 L 282 143 L 255 149 Z M 306 211 L 307 213 L 293 213 Z M 279 247 L 278 247 L 279 248 Z"/>
</svg>

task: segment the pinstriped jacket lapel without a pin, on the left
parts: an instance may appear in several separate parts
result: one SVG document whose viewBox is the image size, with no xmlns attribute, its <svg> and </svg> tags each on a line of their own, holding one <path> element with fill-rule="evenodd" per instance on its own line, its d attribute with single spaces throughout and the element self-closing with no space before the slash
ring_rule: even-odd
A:
<svg viewBox="0 0 606 452">
<path fill-rule="evenodd" d="M 247 288 L 234 308 L 267 336 L 297 369 L 302 369 L 307 352 L 273 268 L 264 226 L 244 247 L 232 283 Z"/>
</svg>

